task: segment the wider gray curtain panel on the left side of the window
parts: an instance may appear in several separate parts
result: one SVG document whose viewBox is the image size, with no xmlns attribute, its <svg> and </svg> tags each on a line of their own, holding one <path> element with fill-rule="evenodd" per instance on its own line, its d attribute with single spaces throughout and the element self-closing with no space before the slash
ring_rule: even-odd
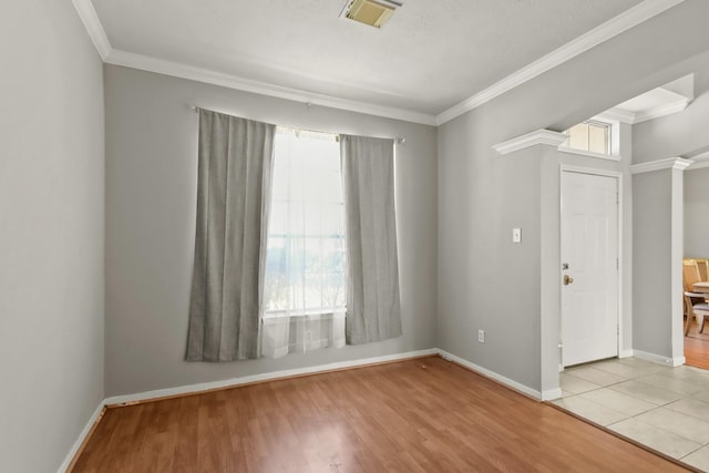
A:
<svg viewBox="0 0 709 473">
<path fill-rule="evenodd" d="M 259 357 L 276 126 L 199 111 L 188 361 Z"/>
</svg>

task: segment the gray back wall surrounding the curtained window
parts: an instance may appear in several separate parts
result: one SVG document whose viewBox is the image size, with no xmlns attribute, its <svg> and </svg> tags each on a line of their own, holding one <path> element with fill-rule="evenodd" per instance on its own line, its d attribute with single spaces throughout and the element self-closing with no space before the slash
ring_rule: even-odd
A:
<svg viewBox="0 0 709 473">
<path fill-rule="evenodd" d="M 435 347 L 435 128 L 105 68 L 106 394 L 117 395 Z M 183 361 L 195 233 L 197 114 L 404 137 L 397 212 L 404 335 L 277 360 Z"/>
</svg>

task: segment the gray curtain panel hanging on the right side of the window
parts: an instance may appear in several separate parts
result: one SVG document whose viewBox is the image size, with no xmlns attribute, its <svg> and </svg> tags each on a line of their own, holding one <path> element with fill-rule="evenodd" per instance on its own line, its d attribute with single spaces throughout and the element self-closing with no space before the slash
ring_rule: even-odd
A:
<svg viewBox="0 0 709 473">
<path fill-rule="evenodd" d="M 340 135 L 348 345 L 401 335 L 393 140 Z"/>
</svg>

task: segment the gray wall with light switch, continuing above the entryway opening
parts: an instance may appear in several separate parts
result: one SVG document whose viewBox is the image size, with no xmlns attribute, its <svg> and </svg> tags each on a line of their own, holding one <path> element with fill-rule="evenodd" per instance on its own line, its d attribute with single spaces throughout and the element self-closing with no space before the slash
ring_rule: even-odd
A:
<svg viewBox="0 0 709 473">
<path fill-rule="evenodd" d="M 547 189 L 540 188 L 538 163 L 530 162 L 538 154 L 501 157 L 491 146 L 538 128 L 564 130 L 691 72 L 706 63 L 707 16 L 709 2 L 688 0 L 439 128 L 440 348 L 541 389 L 549 368 L 538 356 L 546 316 L 540 274 L 558 264 L 540 258 L 540 198 L 546 202 Z M 522 245 L 511 243 L 513 226 L 522 227 Z M 484 345 L 477 329 L 486 331 Z"/>
</svg>

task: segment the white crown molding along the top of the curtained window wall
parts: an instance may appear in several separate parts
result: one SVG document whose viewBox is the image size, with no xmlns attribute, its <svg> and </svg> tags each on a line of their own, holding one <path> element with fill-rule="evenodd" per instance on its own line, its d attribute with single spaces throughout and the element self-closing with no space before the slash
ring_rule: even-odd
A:
<svg viewBox="0 0 709 473">
<path fill-rule="evenodd" d="M 126 68 L 140 69 L 142 71 L 156 72 L 158 74 L 172 75 L 174 78 L 188 79 L 213 85 L 236 89 L 244 92 L 251 92 L 260 95 L 268 95 L 277 99 L 286 99 L 294 102 L 307 103 L 309 105 L 320 105 L 331 109 L 346 110 L 349 112 L 366 113 L 387 119 L 403 120 L 405 122 L 421 123 L 423 125 L 435 125 L 433 115 L 427 113 L 412 112 L 403 109 L 380 106 L 364 102 L 357 102 L 347 99 L 338 99 L 331 95 L 306 92 L 298 89 L 282 88 L 264 82 L 251 81 L 232 74 L 212 71 L 204 68 L 183 64 L 179 62 L 165 61 L 132 52 L 111 50 L 105 59 L 107 64 L 123 65 Z"/>
</svg>

